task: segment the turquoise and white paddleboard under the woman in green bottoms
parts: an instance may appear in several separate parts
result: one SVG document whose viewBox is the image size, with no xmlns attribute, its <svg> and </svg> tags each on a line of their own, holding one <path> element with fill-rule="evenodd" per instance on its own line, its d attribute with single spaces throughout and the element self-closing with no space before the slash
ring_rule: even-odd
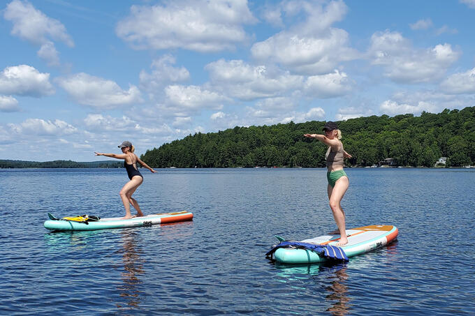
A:
<svg viewBox="0 0 475 316">
<path fill-rule="evenodd" d="M 397 238 L 397 227 L 392 225 L 371 225 L 346 230 L 348 243 L 341 248 L 347 257 L 353 257 L 367 253 L 368 251 L 382 247 Z M 279 241 L 282 238 L 277 237 Z M 312 239 L 302 240 L 302 243 L 313 243 L 316 245 L 335 246 L 339 241 L 339 234 L 326 234 L 324 236 L 314 237 Z M 277 262 L 284 264 L 307 264 L 314 262 L 323 262 L 326 259 L 312 250 L 298 248 L 279 248 L 273 254 Z"/>
</svg>

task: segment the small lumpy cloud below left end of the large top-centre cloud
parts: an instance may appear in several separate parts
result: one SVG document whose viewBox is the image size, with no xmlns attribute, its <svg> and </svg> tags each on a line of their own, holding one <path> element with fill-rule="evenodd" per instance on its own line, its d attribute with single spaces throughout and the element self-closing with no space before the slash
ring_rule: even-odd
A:
<svg viewBox="0 0 475 316">
<path fill-rule="evenodd" d="M 173 64 L 175 64 L 175 57 L 171 55 L 154 60 L 152 73 L 147 73 L 145 70 L 140 72 L 140 86 L 146 91 L 156 93 L 166 84 L 189 80 L 190 74 L 187 68 L 177 68 Z"/>
</svg>

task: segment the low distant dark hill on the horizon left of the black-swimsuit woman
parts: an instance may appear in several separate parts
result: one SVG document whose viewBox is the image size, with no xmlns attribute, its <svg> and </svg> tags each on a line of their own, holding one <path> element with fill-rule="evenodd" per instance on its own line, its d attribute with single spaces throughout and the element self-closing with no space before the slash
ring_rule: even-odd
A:
<svg viewBox="0 0 475 316">
<path fill-rule="evenodd" d="M 54 160 L 43 163 L 37 161 L 24 160 L 0 160 L 0 169 L 19 168 L 120 168 L 124 163 L 114 160 L 91 161 L 87 163 L 77 163 L 72 160 Z"/>
</svg>

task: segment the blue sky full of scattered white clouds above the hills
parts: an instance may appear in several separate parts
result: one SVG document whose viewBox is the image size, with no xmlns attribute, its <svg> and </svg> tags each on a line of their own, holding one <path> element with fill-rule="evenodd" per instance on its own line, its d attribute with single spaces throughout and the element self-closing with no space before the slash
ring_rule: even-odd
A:
<svg viewBox="0 0 475 316">
<path fill-rule="evenodd" d="M 475 0 L 0 0 L 0 159 L 461 110 L 474 32 Z"/>
</svg>

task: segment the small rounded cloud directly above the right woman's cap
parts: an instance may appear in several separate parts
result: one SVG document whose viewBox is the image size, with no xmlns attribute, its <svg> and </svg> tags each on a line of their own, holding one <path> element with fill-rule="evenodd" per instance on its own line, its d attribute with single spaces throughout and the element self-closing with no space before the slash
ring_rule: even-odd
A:
<svg viewBox="0 0 475 316">
<path fill-rule="evenodd" d="M 351 85 L 346 73 L 335 70 L 334 73 L 308 77 L 304 89 L 309 96 L 333 98 L 351 91 Z"/>
</svg>

